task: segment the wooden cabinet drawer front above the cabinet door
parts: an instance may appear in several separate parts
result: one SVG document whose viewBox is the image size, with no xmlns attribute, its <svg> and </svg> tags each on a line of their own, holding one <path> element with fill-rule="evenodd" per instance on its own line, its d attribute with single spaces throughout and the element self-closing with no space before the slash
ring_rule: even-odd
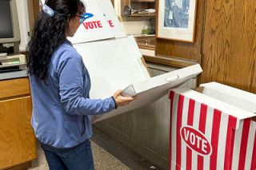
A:
<svg viewBox="0 0 256 170">
<path fill-rule="evenodd" d="M 18 78 L 0 81 L 0 100 L 7 97 L 15 97 L 30 94 L 30 82 L 26 78 Z"/>
</svg>

